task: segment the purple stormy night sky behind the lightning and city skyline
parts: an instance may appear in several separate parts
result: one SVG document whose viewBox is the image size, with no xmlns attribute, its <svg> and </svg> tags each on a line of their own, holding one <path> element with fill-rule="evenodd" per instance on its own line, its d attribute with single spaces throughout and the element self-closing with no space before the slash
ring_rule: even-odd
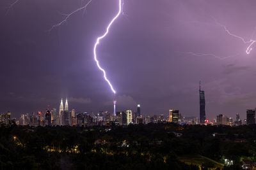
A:
<svg viewBox="0 0 256 170">
<path fill-rule="evenodd" d="M 0 1 L 0 112 L 14 117 L 59 108 L 113 111 L 113 93 L 93 60 L 93 44 L 118 11 L 118 0 L 93 0 L 84 12 L 56 27 L 86 4 L 80 0 Z M 125 15 L 100 42 L 98 58 L 117 91 L 116 110 L 143 115 L 170 108 L 199 117 L 199 81 L 206 117 L 245 117 L 256 106 L 256 1 L 125 0 Z M 212 53 L 195 56 L 189 52 Z M 231 56 L 231 57 L 227 57 Z"/>
</svg>

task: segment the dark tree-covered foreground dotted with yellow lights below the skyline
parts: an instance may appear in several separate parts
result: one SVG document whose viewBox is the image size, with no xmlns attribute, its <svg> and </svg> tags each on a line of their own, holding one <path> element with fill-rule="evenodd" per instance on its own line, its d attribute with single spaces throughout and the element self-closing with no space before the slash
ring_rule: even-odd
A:
<svg viewBox="0 0 256 170">
<path fill-rule="evenodd" d="M 0 169 L 241 169 L 255 141 L 256 125 L 2 125 Z"/>
</svg>

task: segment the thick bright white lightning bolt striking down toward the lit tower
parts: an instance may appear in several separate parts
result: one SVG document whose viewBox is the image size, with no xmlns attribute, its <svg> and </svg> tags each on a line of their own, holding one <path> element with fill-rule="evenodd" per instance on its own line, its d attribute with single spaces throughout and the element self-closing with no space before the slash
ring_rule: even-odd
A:
<svg viewBox="0 0 256 170">
<path fill-rule="evenodd" d="M 100 40 L 105 38 L 107 35 L 108 35 L 108 32 L 109 32 L 109 29 L 111 27 L 111 25 L 113 24 L 113 22 L 115 22 L 116 18 L 118 18 L 120 16 L 120 13 L 122 13 L 122 0 L 118 0 L 119 1 L 119 10 L 118 10 L 118 13 L 115 15 L 115 17 L 111 20 L 111 22 L 109 22 L 108 24 L 108 27 L 106 28 L 106 32 L 104 32 L 104 34 L 100 37 L 97 38 L 97 41 L 94 45 L 94 48 L 93 48 L 93 55 L 94 55 L 94 60 L 97 64 L 97 66 L 99 67 L 100 71 L 103 72 L 103 76 L 104 76 L 104 79 L 108 82 L 108 85 L 109 87 L 111 88 L 112 92 L 114 94 L 116 94 L 116 91 L 115 89 L 113 88 L 113 85 L 111 85 L 110 81 L 108 80 L 107 76 L 106 76 L 106 71 L 104 69 L 102 69 L 102 67 L 100 67 L 100 64 L 99 64 L 99 60 L 97 59 L 97 46 L 99 45 L 100 43 Z"/>
</svg>

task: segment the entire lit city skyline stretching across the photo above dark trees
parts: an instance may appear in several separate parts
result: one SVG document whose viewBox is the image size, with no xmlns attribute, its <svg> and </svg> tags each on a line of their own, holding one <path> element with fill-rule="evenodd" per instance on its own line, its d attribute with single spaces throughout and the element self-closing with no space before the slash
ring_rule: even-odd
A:
<svg viewBox="0 0 256 170">
<path fill-rule="evenodd" d="M 99 111 L 98 113 L 76 112 L 68 109 L 68 100 L 66 99 L 65 107 L 61 99 L 60 109 L 50 109 L 48 106 L 45 112 L 37 111 L 31 114 L 22 114 L 19 120 L 11 120 L 10 111 L 0 113 L 0 124 L 10 124 L 15 121 L 18 125 L 31 125 L 31 126 L 46 126 L 46 125 L 77 125 L 77 126 L 92 126 L 92 125 L 129 125 L 129 124 L 148 124 L 159 122 L 173 122 L 177 124 L 205 124 L 205 125 L 250 125 L 255 124 L 255 110 L 246 111 L 246 119 L 240 119 L 239 114 L 236 115 L 236 120 L 225 115 L 217 115 L 211 122 L 205 118 L 205 92 L 199 86 L 199 101 L 200 101 L 200 117 L 182 117 L 179 110 L 169 110 L 167 117 L 164 115 L 142 116 L 141 105 L 137 105 L 137 110 L 116 111 L 114 101 L 114 112 Z"/>
</svg>

